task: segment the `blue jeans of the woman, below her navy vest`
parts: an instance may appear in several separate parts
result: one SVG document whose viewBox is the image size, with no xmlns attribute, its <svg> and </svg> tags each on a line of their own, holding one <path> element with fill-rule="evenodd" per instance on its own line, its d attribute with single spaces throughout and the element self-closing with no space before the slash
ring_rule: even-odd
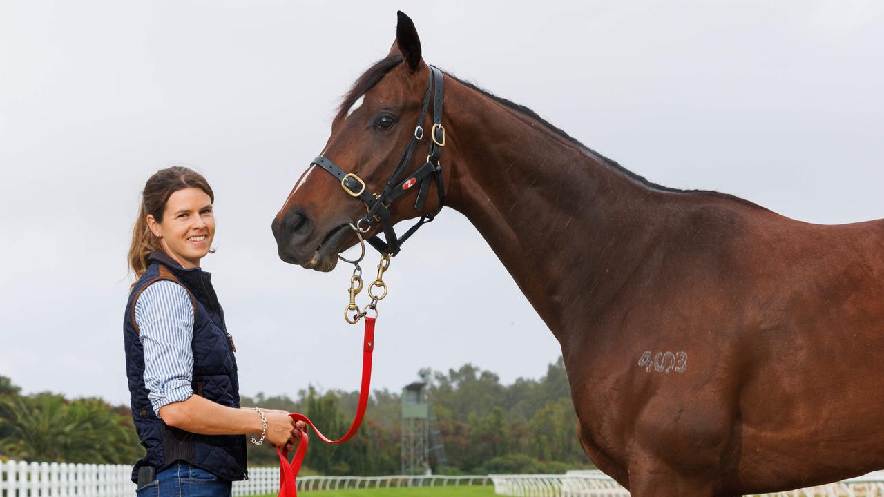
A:
<svg viewBox="0 0 884 497">
<path fill-rule="evenodd" d="M 187 463 L 174 463 L 156 480 L 135 491 L 137 497 L 231 497 L 231 482 Z"/>
</svg>

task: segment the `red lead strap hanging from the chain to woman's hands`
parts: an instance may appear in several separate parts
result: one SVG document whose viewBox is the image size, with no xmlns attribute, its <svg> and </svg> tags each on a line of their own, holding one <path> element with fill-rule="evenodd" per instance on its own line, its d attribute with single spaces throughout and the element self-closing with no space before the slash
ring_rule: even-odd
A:
<svg viewBox="0 0 884 497">
<path fill-rule="evenodd" d="M 375 348 L 375 317 L 365 317 L 365 335 L 362 339 L 362 385 L 359 387 L 359 405 L 356 407 L 356 416 L 353 418 L 353 424 L 347 433 L 338 440 L 330 440 L 316 429 L 316 426 L 306 416 L 300 412 L 289 414 L 295 421 L 303 421 L 309 424 L 316 431 L 316 436 L 320 440 L 330 444 L 339 444 L 353 438 L 359 425 L 362 424 L 362 417 L 365 415 L 365 407 L 369 404 L 369 386 L 371 384 L 371 352 Z M 298 477 L 298 471 L 301 470 L 301 463 L 304 462 L 304 455 L 307 455 L 307 432 L 301 432 L 301 443 L 298 450 L 294 452 L 292 463 L 288 462 L 288 450 L 285 446 L 277 448 L 279 454 L 279 495 L 278 497 L 297 497 L 298 488 L 294 483 L 294 478 Z"/>
</svg>

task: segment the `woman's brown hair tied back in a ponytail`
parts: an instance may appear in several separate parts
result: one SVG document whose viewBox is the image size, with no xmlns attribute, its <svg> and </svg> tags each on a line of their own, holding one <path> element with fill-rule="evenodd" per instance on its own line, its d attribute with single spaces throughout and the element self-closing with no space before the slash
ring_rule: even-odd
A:
<svg viewBox="0 0 884 497">
<path fill-rule="evenodd" d="M 209 181 L 206 181 L 199 172 L 184 166 L 176 165 L 161 169 L 144 184 L 144 190 L 141 192 L 141 208 L 132 230 L 132 245 L 129 247 L 128 257 L 129 269 L 135 273 L 135 279 L 141 278 L 144 271 L 147 271 L 150 253 L 163 249 L 160 247 L 159 239 L 148 227 L 148 214 L 152 215 L 157 223 L 163 222 L 163 212 L 169 197 L 183 188 L 200 188 L 209 195 L 212 203 L 215 202 L 215 194 L 209 186 Z"/>
</svg>

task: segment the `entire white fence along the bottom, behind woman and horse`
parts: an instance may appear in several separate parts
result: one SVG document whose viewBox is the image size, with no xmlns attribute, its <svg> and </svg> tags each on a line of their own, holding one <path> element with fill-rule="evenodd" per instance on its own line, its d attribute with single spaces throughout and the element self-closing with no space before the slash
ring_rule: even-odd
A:
<svg viewBox="0 0 884 497">
<path fill-rule="evenodd" d="M 278 468 L 250 468 L 249 479 L 234 482 L 233 495 L 277 493 Z M 133 497 L 128 464 L 0 463 L 0 497 Z M 620 497 L 629 492 L 598 471 L 565 475 L 402 476 L 298 478 L 298 490 L 323 491 L 400 486 L 468 486 L 493 483 L 494 492 L 513 497 Z M 379 493 L 380 494 L 380 493 Z M 824 486 L 761 497 L 884 497 L 884 471 Z"/>
</svg>

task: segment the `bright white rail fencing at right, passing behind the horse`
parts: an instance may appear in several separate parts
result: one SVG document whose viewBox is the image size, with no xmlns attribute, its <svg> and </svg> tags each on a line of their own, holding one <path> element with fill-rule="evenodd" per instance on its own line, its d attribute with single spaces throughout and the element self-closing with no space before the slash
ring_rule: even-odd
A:
<svg viewBox="0 0 884 497">
<path fill-rule="evenodd" d="M 565 475 L 491 475 L 494 493 L 513 497 L 619 497 L 629 491 L 601 471 L 568 471 Z M 884 471 L 760 497 L 884 497 Z"/>
</svg>

